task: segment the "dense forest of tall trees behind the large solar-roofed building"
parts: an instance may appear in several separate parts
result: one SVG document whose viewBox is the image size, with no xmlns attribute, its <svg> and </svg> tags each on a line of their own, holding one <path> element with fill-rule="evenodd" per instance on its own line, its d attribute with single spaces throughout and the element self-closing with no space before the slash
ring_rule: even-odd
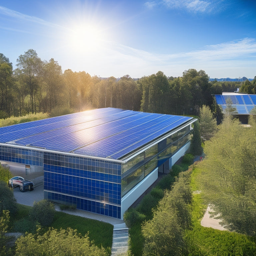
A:
<svg viewBox="0 0 256 256">
<path fill-rule="evenodd" d="M 245 81 L 254 92 L 256 79 Z M 204 70 L 188 69 L 181 77 L 162 71 L 141 78 L 124 75 L 101 78 L 85 71 L 62 72 L 51 58 L 41 60 L 29 49 L 17 58 L 16 68 L 0 53 L 0 119 L 56 109 L 79 112 L 113 107 L 135 111 L 198 115 L 202 105 L 212 106 L 212 94 L 236 91 L 241 82 L 209 82 Z"/>
</svg>

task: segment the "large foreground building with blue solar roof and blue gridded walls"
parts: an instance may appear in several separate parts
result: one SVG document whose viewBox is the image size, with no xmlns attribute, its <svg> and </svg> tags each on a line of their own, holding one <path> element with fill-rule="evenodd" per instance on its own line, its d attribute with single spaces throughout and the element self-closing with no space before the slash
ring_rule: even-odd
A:
<svg viewBox="0 0 256 256">
<path fill-rule="evenodd" d="M 122 219 L 189 150 L 194 121 L 102 108 L 2 127 L 0 161 L 43 170 L 50 201 Z"/>
</svg>

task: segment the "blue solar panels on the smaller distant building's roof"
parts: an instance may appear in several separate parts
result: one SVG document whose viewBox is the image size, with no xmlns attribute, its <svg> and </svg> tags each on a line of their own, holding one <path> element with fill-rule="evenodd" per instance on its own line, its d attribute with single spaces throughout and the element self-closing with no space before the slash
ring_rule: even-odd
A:
<svg viewBox="0 0 256 256">
<path fill-rule="evenodd" d="M 223 110 L 227 108 L 227 105 L 230 105 L 234 109 L 231 114 L 248 115 L 251 113 L 252 109 L 256 107 L 256 95 L 254 94 L 224 94 L 214 96 L 216 103 L 220 105 Z"/>
</svg>

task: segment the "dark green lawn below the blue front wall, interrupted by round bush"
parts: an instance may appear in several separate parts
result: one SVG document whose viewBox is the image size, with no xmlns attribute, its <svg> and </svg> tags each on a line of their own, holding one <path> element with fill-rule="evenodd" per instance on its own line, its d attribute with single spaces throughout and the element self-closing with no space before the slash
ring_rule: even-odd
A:
<svg viewBox="0 0 256 256">
<path fill-rule="evenodd" d="M 13 231 L 15 222 L 17 223 L 24 218 L 29 222 L 28 215 L 32 207 L 21 204 L 17 204 L 17 207 L 17 214 L 13 218 L 10 218 L 11 231 Z M 89 238 L 91 241 L 94 240 L 95 245 L 99 247 L 102 245 L 104 248 L 111 248 L 112 246 L 113 225 L 106 222 L 83 218 L 64 212 L 56 212 L 51 226 L 58 230 L 60 228 L 67 229 L 70 227 L 76 229 L 77 232 L 81 233 L 83 236 L 89 232 Z M 19 232 L 19 230 L 15 230 L 15 232 Z"/>
</svg>

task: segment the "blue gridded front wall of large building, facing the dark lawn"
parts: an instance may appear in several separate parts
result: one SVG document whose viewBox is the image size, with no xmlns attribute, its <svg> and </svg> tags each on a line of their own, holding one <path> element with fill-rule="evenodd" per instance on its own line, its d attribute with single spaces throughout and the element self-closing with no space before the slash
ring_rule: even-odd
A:
<svg viewBox="0 0 256 256">
<path fill-rule="evenodd" d="M 121 164 L 44 153 L 45 198 L 121 218 Z"/>
</svg>

